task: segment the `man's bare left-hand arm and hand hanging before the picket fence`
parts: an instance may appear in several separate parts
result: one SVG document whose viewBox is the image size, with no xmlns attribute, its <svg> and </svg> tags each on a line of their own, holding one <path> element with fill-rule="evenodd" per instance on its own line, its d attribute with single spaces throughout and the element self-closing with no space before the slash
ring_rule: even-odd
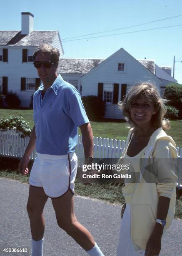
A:
<svg viewBox="0 0 182 256">
<path fill-rule="evenodd" d="M 25 150 L 25 153 L 18 165 L 19 172 L 22 175 L 26 175 L 29 172 L 27 164 L 30 160 L 30 155 L 32 154 L 32 152 L 35 149 L 35 141 L 36 141 L 36 134 L 35 134 L 35 125 L 34 125 L 32 132 L 30 134 L 30 141 L 29 141 L 27 148 Z"/>
</svg>

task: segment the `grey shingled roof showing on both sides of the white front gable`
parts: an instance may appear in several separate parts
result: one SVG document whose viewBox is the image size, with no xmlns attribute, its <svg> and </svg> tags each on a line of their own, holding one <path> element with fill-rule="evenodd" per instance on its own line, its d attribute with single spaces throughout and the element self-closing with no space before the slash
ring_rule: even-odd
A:
<svg viewBox="0 0 182 256">
<path fill-rule="evenodd" d="M 91 69 L 97 67 L 104 59 L 66 59 L 61 58 L 57 72 L 72 74 L 87 74 Z M 154 60 L 138 60 L 144 67 L 155 74 Z"/>
</svg>

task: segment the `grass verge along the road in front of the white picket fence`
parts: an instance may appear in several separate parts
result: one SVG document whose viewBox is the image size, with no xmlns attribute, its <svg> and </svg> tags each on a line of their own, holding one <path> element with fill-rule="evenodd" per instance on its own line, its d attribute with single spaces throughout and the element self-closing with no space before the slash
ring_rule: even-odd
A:
<svg viewBox="0 0 182 256">
<path fill-rule="evenodd" d="M 0 177 L 7 179 L 15 179 L 20 182 L 27 183 L 29 176 L 22 176 L 17 172 L 17 165 L 20 160 L 10 159 L 10 158 L 0 158 Z M 30 162 L 28 168 L 31 169 L 33 162 Z M 122 205 L 124 203 L 124 198 L 122 195 L 122 188 L 120 186 L 111 186 L 110 184 L 89 184 L 84 185 L 79 183 L 77 180 L 75 182 L 75 192 L 76 195 L 96 198 L 103 200 L 105 202 L 110 202 L 114 204 Z M 176 200 L 176 212 L 175 217 L 182 219 L 182 200 Z"/>
</svg>

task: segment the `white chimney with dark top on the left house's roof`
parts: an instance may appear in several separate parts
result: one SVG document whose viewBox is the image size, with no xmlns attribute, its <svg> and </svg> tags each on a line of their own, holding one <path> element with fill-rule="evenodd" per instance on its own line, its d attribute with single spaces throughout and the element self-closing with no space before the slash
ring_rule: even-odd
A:
<svg viewBox="0 0 182 256">
<path fill-rule="evenodd" d="M 22 13 L 22 35 L 28 35 L 33 30 L 33 17 L 32 13 Z"/>
</svg>

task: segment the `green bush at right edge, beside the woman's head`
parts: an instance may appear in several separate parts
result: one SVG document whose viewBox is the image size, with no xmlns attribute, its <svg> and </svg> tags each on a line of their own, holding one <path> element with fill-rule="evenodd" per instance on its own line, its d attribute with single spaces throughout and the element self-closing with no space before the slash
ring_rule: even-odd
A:
<svg viewBox="0 0 182 256">
<path fill-rule="evenodd" d="M 182 84 L 168 84 L 165 88 L 164 98 L 169 100 L 167 105 L 179 110 L 178 116 L 182 119 Z"/>
</svg>

